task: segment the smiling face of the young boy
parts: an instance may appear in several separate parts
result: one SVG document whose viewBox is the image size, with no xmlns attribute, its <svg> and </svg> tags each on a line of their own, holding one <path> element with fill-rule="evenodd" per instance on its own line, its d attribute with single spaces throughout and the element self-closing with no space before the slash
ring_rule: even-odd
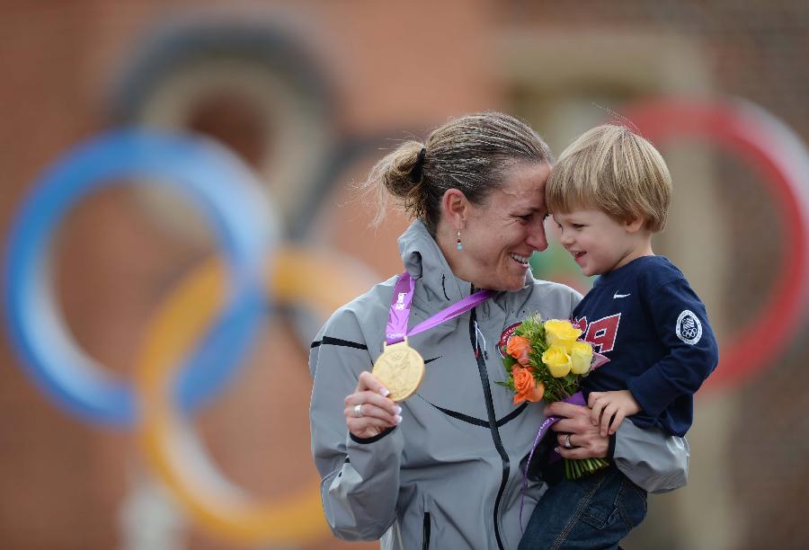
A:
<svg viewBox="0 0 809 550">
<path fill-rule="evenodd" d="M 576 208 L 554 214 L 559 238 L 587 277 L 613 271 L 652 253 L 643 220 L 619 222 L 598 209 Z"/>
</svg>

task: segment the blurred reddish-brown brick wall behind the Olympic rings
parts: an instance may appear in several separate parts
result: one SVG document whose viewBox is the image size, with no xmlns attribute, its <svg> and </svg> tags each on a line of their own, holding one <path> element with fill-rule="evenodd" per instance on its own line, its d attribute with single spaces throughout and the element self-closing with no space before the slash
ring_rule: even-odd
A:
<svg viewBox="0 0 809 550">
<path fill-rule="evenodd" d="M 584 120 L 561 115 L 554 119 L 551 111 L 565 116 L 569 112 L 552 109 L 559 103 L 540 92 L 564 80 L 564 67 L 582 63 L 582 58 L 598 67 L 613 67 L 606 72 L 616 75 L 624 74 L 622 66 L 636 62 L 609 58 L 607 51 L 576 51 L 578 37 L 584 48 L 596 35 L 615 43 L 641 35 L 675 37 L 696 52 L 705 72 L 702 84 L 695 84 L 691 93 L 756 102 L 786 121 L 804 141 L 809 138 L 809 4 L 800 2 L 0 0 L 0 14 L 3 235 L 38 174 L 70 146 L 113 124 L 111 104 L 120 93 L 115 84 L 142 40 L 166 21 L 189 17 L 283 22 L 289 36 L 317 60 L 330 86 L 328 132 L 333 143 L 352 137 L 420 135 L 449 116 L 501 109 L 528 118 L 561 151 L 583 129 L 579 126 Z M 560 42 L 560 35 L 568 41 Z M 621 48 L 631 51 L 633 45 Z M 642 43 L 635 49 L 643 49 Z M 660 51 L 662 59 L 666 55 Z M 516 61 L 520 56 L 524 59 Z M 549 58 L 554 58 L 553 65 Z M 543 67 L 553 70 L 543 73 Z M 533 84 L 520 84 L 527 73 L 538 76 Z M 635 77 L 637 82 L 643 81 L 643 74 Z M 554 93 L 581 96 L 585 102 L 593 98 L 619 110 L 622 101 L 641 95 L 638 89 L 646 95 L 689 90 L 688 83 L 678 81 L 691 79 L 691 72 L 672 69 L 668 75 L 668 80 L 640 88 L 621 85 L 623 77 L 612 82 L 609 74 L 600 75 L 598 85 L 577 84 L 570 77 L 561 92 Z M 263 134 L 253 136 L 249 112 L 240 115 L 227 101 L 209 103 L 205 109 L 196 111 L 197 128 L 225 138 L 257 168 L 257 154 L 250 151 L 279 146 L 277 140 L 286 135 L 279 123 L 279 128 L 254 129 Z M 589 122 L 600 116 L 595 111 L 584 118 Z M 312 244 L 358 259 L 381 278 L 397 270 L 392 244 L 406 222 L 394 216 L 378 231 L 367 229 L 369 212 L 346 189 L 376 160 L 378 143 L 334 174 L 339 191 L 326 200 L 329 206 L 322 216 L 311 221 L 309 238 Z M 755 315 L 760 288 L 772 278 L 769 266 L 789 251 L 778 247 L 778 214 L 762 196 L 757 177 L 738 159 L 719 155 L 715 161 L 712 173 L 718 175 L 711 185 L 721 201 L 727 201 L 724 219 L 730 222 L 725 231 L 733 237 L 733 253 L 726 254 L 732 265 L 723 269 L 739 275 L 725 281 L 716 298 L 716 315 L 728 320 L 725 332 L 731 333 L 740 319 Z M 712 228 L 701 230 L 710 233 Z M 55 250 L 58 297 L 76 340 L 106 367 L 130 376 L 154 308 L 210 252 L 205 239 L 164 225 L 129 190 L 104 191 L 84 201 L 60 227 Z M 806 335 L 804 325 L 795 342 L 751 382 L 724 395 L 700 397 L 697 422 L 711 427 L 696 434 L 706 443 L 692 440 L 692 480 L 710 478 L 711 468 L 721 469 L 721 491 L 733 513 L 723 516 L 722 510 L 711 508 L 710 499 L 700 504 L 676 493 L 654 497 L 650 519 L 627 547 L 804 546 L 809 538 L 800 511 L 809 486 L 809 423 L 803 414 L 809 405 Z M 244 376 L 195 420 L 227 476 L 250 492 L 273 498 L 282 498 L 315 476 L 308 456 L 306 351 L 290 343 L 295 338 L 289 323 L 268 324 Z M 289 387 L 292 390 L 284 390 Z M 711 463 L 703 450 L 712 439 L 730 446 L 721 463 Z M 147 472 L 137 440 L 125 431 L 77 421 L 51 404 L 19 368 L 4 331 L 0 449 L 0 546 L 133 547 L 128 545 L 137 537 L 124 527 L 122 510 L 132 505 L 135 488 Z M 684 492 L 698 494 L 698 487 Z M 175 510 L 170 518 L 180 513 L 168 506 Z M 721 521 L 715 521 L 717 514 L 723 516 Z M 164 533 L 173 533 L 179 546 L 236 547 L 178 517 L 176 527 L 164 528 Z M 156 524 L 150 525 L 140 530 Z M 303 546 L 349 547 L 328 536 Z"/>
</svg>

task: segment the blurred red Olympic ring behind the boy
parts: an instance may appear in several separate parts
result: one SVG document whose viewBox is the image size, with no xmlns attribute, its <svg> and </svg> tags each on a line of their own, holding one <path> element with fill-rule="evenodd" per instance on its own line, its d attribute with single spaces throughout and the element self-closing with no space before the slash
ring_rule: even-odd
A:
<svg viewBox="0 0 809 550">
<path fill-rule="evenodd" d="M 805 321 L 809 303 L 809 153 L 795 132 L 760 107 L 742 100 L 698 102 L 663 99 L 626 113 L 654 141 L 703 137 L 740 155 L 758 170 L 785 227 L 781 265 L 755 320 L 721 342 L 722 355 L 706 387 L 737 386 L 786 347 Z M 762 338 L 761 334 L 767 334 Z"/>
</svg>

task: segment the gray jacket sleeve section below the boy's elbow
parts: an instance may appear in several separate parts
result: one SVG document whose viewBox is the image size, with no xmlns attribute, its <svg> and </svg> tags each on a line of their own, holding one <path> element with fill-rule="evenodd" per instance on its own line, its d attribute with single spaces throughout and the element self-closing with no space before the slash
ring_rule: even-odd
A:
<svg viewBox="0 0 809 550">
<path fill-rule="evenodd" d="M 624 421 L 616 432 L 612 458 L 618 470 L 638 487 L 648 492 L 668 492 L 688 482 L 689 456 L 685 438 Z"/>
</svg>

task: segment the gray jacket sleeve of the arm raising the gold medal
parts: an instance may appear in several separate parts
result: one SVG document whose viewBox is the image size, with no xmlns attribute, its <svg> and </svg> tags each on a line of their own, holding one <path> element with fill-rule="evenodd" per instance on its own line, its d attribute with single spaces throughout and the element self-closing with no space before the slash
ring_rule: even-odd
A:
<svg viewBox="0 0 809 550">
<path fill-rule="evenodd" d="M 396 519 L 401 430 L 352 439 L 343 416 L 343 400 L 354 392 L 360 372 L 371 368 L 356 317 L 338 311 L 310 351 L 309 422 L 326 520 L 333 534 L 346 540 L 376 540 Z"/>
</svg>

